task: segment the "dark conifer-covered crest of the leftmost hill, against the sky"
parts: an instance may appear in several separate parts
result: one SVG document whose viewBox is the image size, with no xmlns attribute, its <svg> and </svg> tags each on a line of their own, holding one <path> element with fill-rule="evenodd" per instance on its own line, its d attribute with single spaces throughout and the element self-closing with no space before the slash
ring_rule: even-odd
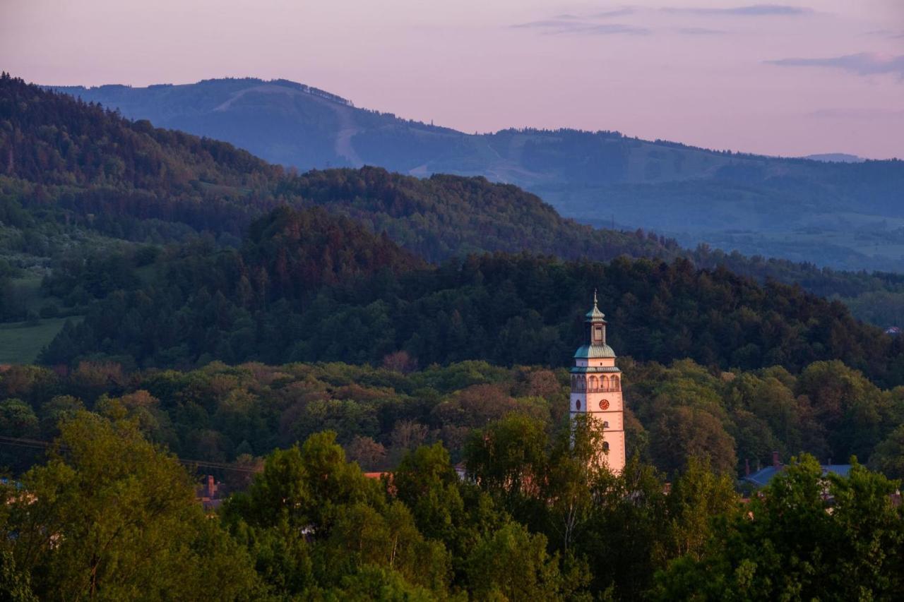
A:
<svg viewBox="0 0 904 602">
<path fill-rule="evenodd" d="M 129 121 L 97 104 L 73 102 L 4 77 L 4 173 L 33 183 L 191 192 L 198 182 L 267 182 L 282 171 L 208 138 Z"/>
</svg>

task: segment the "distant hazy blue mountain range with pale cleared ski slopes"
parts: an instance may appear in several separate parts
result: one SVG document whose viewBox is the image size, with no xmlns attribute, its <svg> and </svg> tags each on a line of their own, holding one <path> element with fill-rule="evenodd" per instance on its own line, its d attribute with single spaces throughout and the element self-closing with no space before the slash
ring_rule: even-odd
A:
<svg viewBox="0 0 904 602">
<path fill-rule="evenodd" d="M 514 183 L 594 225 L 614 216 L 687 246 L 846 269 L 904 271 L 904 162 L 713 151 L 618 132 L 466 134 L 355 108 L 287 80 L 58 88 L 129 118 L 212 136 L 298 169 L 380 165 Z"/>
</svg>

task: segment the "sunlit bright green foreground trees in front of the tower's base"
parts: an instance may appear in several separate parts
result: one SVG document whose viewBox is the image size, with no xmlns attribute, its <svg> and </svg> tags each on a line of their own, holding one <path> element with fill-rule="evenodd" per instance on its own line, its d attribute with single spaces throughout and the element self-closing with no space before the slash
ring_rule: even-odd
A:
<svg viewBox="0 0 904 602">
<path fill-rule="evenodd" d="M 904 586 L 898 483 L 860 465 L 825 478 L 801 456 L 742 504 L 700 460 L 668 484 L 636 460 L 613 476 L 597 431 L 511 413 L 466 438 L 465 480 L 441 443 L 366 478 L 326 431 L 274 451 L 205 516 L 188 472 L 143 437 L 146 403 L 99 412 L 68 410 L 46 460 L 0 485 L 6 599 L 893 599 Z"/>
</svg>

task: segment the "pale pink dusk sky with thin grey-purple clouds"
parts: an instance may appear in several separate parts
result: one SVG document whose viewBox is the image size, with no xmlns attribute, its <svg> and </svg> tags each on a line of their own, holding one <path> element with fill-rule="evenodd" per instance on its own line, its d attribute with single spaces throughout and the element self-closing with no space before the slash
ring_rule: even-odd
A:
<svg viewBox="0 0 904 602">
<path fill-rule="evenodd" d="M 285 78 L 467 132 L 904 157 L 904 0 L 0 0 L 44 84 Z"/>
</svg>

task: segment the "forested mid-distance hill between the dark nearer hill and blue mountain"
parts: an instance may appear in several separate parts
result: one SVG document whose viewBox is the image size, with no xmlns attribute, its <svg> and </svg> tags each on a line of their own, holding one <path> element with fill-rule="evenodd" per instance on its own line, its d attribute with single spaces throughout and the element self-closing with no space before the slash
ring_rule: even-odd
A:
<svg viewBox="0 0 904 602">
<path fill-rule="evenodd" d="M 682 252 L 674 240 L 652 233 L 598 230 L 563 219 L 533 194 L 482 177 L 422 180 L 376 167 L 334 169 L 285 179 L 278 193 L 346 213 L 431 261 L 496 250 L 598 260 Z"/>
</svg>

